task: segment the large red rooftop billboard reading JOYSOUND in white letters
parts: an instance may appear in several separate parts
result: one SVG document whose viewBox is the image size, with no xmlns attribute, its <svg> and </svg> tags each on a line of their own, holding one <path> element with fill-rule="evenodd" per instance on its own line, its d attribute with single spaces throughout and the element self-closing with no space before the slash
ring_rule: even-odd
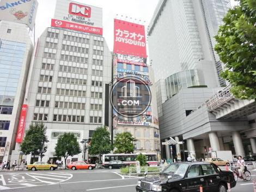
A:
<svg viewBox="0 0 256 192">
<path fill-rule="evenodd" d="M 147 58 L 145 27 L 115 19 L 113 52 Z"/>
</svg>

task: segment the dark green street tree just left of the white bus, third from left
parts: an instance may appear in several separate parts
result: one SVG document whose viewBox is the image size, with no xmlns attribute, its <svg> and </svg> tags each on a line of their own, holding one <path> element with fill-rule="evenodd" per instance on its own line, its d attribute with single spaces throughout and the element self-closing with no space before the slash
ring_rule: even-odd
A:
<svg viewBox="0 0 256 192">
<path fill-rule="evenodd" d="M 93 133 L 92 141 L 90 142 L 89 153 L 99 155 L 100 162 L 102 154 L 109 153 L 113 150 L 111 145 L 110 134 L 106 127 L 97 127 Z"/>
</svg>

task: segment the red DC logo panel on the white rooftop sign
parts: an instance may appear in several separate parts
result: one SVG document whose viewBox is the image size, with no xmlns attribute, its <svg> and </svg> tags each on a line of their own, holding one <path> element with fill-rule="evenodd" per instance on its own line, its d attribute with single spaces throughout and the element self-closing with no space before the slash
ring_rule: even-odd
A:
<svg viewBox="0 0 256 192">
<path fill-rule="evenodd" d="M 69 14 L 89 18 L 90 13 L 91 13 L 91 8 L 86 5 L 80 5 L 76 3 L 69 4 Z"/>
</svg>

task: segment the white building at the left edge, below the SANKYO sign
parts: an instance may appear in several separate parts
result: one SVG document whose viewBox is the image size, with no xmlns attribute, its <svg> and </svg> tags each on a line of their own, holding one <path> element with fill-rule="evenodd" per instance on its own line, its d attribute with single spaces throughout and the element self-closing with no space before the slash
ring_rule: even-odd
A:
<svg viewBox="0 0 256 192">
<path fill-rule="evenodd" d="M 26 24 L 0 21 L 0 162 L 10 159 L 33 45 Z"/>
</svg>

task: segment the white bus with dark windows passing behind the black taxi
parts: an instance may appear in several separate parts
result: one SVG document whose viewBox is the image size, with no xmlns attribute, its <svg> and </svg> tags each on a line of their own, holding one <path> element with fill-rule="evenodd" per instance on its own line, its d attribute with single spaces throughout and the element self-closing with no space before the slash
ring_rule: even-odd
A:
<svg viewBox="0 0 256 192">
<path fill-rule="evenodd" d="M 103 154 L 102 156 L 102 164 L 108 164 L 111 160 L 121 160 L 124 164 L 136 164 L 136 157 L 139 153 L 117 153 L 117 154 Z M 156 153 L 142 153 L 147 157 L 147 164 L 149 166 L 159 165 L 157 162 L 157 154 Z"/>
</svg>

